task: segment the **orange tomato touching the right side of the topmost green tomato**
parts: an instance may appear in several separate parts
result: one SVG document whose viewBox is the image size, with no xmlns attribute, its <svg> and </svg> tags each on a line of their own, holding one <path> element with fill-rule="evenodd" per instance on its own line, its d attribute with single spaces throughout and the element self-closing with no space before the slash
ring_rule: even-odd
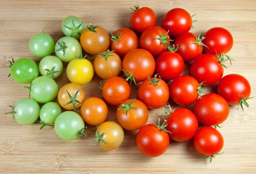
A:
<svg viewBox="0 0 256 174">
<path fill-rule="evenodd" d="M 108 32 L 101 26 L 87 26 L 80 37 L 80 43 L 84 51 L 89 54 L 101 53 L 106 51 L 110 44 Z"/>
</svg>

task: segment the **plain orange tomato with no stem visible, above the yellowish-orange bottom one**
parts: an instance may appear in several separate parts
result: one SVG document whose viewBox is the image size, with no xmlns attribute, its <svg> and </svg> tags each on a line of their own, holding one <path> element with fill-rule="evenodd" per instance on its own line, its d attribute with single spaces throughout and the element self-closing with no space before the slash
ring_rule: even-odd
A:
<svg viewBox="0 0 256 174">
<path fill-rule="evenodd" d="M 88 98 L 81 105 L 81 117 L 90 125 L 99 125 L 108 117 L 108 107 L 97 97 Z"/>
</svg>

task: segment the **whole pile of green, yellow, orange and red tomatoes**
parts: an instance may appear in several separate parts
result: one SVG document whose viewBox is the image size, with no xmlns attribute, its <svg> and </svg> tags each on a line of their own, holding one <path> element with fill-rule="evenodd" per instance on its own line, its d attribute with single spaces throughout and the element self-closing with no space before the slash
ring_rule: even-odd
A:
<svg viewBox="0 0 256 174">
<path fill-rule="evenodd" d="M 136 5 L 131 9 L 132 29 L 120 28 L 108 34 L 101 26 L 92 22 L 86 26 L 81 19 L 69 16 L 61 24 L 65 37 L 56 43 L 45 32 L 32 36 L 29 50 L 42 58 L 39 66 L 28 58 L 9 61 L 9 76 L 18 83 L 30 83 L 24 86 L 29 98 L 20 99 L 5 114 L 12 114 L 22 125 L 30 125 L 40 117 L 40 129 L 53 126 L 64 140 L 86 136 L 85 123 L 96 126 L 93 140 L 106 150 L 121 146 L 123 129 L 139 130 L 137 147 L 148 157 L 166 152 L 170 138 L 178 142 L 194 138 L 195 149 L 210 157 L 211 162 L 224 145 L 217 128 L 228 118 L 229 105 L 238 105 L 242 110 L 243 105 L 249 107 L 251 89 L 247 79 L 238 74 L 223 77 L 223 67 L 227 68 L 224 62 L 233 61 L 227 55 L 233 46 L 232 35 L 220 27 L 209 29 L 204 36 L 201 32 L 190 33 L 197 20 L 182 8 L 168 11 L 163 27 L 155 26 L 157 18 L 151 8 Z M 96 55 L 93 64 L 82 50 Z M 184 61 L 193 61 L 191 76 L 181 75 Z M 58 89 L 54 79 L 63 71 L 62 62 L 68 62 L 66 72 L 71 83 Z M 86 99 L 82 87 L 92 80 L 94 72 L 106 79 L 104 84 L 99 81 L 102 99 Z M 170 80 L 168 86 L 166 81 Z M 217 83 L 218 94 L 207 94 L 203 86 Z M 131 85 L 140 85 L 138 98 L 129 98 Z M 56 97 L 58 102 L 53 101 Z M 195 104 L 194 110 L 181 107 L 173 111 L 169 99 L 180 106 Z M 44 104 L 41 109 L 38 103 Z M 118 106 L 117 123 L 105 122 L 108 105 Z M 157 124 L 146 124 L 148 108 L 164 106 L 169 106 L 170 110 L 164 109 L 168 118 L 163 123 L 159 118 Z M 67 111 L 61 112 L 61 107 Z M 81 115 L 74 112 L 79 108 Z M 199 130 L 198 123 L 203 125 Z"/>
</svg>

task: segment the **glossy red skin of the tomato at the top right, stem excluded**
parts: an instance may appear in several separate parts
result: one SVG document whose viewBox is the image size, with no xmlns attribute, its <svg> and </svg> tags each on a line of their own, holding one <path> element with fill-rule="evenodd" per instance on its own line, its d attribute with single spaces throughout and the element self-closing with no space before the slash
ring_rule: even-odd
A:
<svg viewBox="0 0 256 174">
<path fill-rule="evenodd" d="M 163 17 L 163 28 L 169 30 L 169 35 L 177 37 L 189 32 L 192 27 L 192 18 L 183 8 L 173 8 Z"/>
</svg>

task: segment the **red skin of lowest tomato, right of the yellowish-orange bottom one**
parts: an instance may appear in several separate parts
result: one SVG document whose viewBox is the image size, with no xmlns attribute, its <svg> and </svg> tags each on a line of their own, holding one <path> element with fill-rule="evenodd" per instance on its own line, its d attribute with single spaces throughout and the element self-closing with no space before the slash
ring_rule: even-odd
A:
<svg viewBox="0 0 256 174">
<path fill-rule="evenodd" d="M 170 138 L 154 124 L 143 126 L 137 134 L 136 144 L 140 152 L 148 157 L 158 157 L 168 149 Z"/>
</svg>

